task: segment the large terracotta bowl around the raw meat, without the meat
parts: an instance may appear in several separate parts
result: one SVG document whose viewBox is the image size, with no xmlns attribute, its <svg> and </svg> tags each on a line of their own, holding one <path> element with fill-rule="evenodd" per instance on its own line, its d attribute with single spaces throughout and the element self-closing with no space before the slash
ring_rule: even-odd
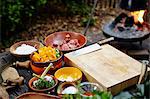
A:
<svg viewBox="0 0 150 99">
<path fill-rule="evenodd" d="M 58 48 L 60 51 L 68 52 L 68 51 L 77 50 L 77 49 L 83 47 L 87 43 L 87 38 L 84 35 L 82 35 L 81 33 L 69 32 L 69 31 L 52 33 L 45 38 L 44 43 L 46 46 L 50 45 L 50 46 L 56 47 L 54 45 L 62 44 L 62 42 L 64 41 L 67 34 L 69 34 L 71 36 L 70 37 L 71 39 L 78 39 L 79 47 L 76 47 L 74 49 L 69 49 L 69 50 L 63 50 L 61 48 Z"/>
</svg>

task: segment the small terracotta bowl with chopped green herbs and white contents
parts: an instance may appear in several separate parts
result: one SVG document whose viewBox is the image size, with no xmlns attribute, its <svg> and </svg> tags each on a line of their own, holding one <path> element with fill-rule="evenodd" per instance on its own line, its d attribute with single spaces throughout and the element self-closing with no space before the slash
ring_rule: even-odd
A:
<svg viewBox="0 0 150 99">
<path fill-rule="evenodd" d="M 29 87 L 33 91 L 45 92 L 52 91 L 58 84 L 58 80 L 52 75 L 46 75 L 44 77 L 33 77 L 29 80 Z"/>
</svg>

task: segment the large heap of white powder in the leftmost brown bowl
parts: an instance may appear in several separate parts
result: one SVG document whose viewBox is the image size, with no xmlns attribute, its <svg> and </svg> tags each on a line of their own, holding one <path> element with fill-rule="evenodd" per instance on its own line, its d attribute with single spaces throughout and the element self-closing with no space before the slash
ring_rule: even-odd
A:
<svg viewBox="0 0 150 99">
<path fill-rule="evenodd" d="M 37 51 L 37 49 L 33 46 L 22 44 L 21 46 L 17 47 L 14 51 L 16 54 L 26 55 L 31 54 L 32 52 Z"/>
</svg>

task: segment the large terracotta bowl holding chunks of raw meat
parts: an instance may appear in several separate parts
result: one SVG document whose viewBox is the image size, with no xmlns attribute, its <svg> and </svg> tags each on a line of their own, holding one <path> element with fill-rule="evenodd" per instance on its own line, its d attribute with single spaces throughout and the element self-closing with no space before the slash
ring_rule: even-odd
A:
<svg viewBox="0 0 150 99">
<path fill-rule="evenodd" d="M 62 31 L 48 35 L 44 43 L 46 46 L 53 46 L 60 51 L 69 52 L 77 50 L 87 43 L 87 38 L 81 33 Z"/>
</svg>

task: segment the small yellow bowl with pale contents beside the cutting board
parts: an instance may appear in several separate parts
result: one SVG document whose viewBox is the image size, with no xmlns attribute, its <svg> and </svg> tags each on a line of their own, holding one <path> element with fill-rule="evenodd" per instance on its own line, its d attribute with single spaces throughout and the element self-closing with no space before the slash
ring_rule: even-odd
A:
<svg viewBox="0 0 150 99">
<path fill-rule="evenodd" d="M 82 72 L 75 67 L 63 67 L 58 69 L 54 76 L 61 82 L 79 83 L 82 80 Z"/>
</svg>

